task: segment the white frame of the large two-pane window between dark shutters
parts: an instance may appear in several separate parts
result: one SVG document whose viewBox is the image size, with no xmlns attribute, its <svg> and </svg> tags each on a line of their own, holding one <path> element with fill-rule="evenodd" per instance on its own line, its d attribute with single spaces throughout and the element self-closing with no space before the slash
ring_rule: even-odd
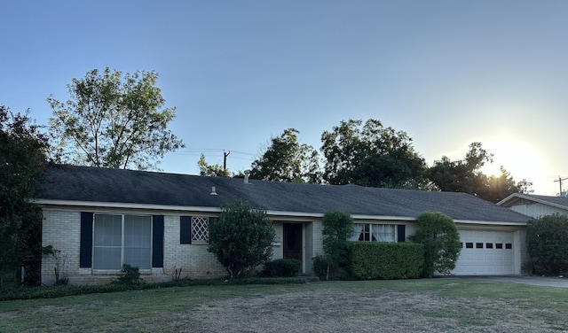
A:
<svg viewBox="0 0 568 333">
<path fill-rule="evenodd" d="M 121 266 L 120 268 L 96 268 L 96 251 L 95 249 L 97 247 L 102 247 L 102 246 L 97 246 L 97 236 L 95 233 L 95 229 L 97 228 L 97 216 L 98 215 L 110 215 L 110 216 L 120 216 L 121 217 Z M 151 272 L 152 271 L 152 267 L 153 267 L 153 255 L 154 255 L 154 215 L 152 214 L 130 214 L 130 213 L 93 213 L 92 214 L 92 246 L 91 246 L 91 251 L 92 251 L 92 256 L 91 256 L 91 269 L 93 272 L 96 273 L 116 273 L 116 272 L 120 272 L 122 271 L 122 265 L 124 265 L 126 262 L 124 262 L 124 251 L 125 248 L 127 248 L 127 246 L 125 245 L 125 233 L 124 233 L 124 225 L 125 225 L 125 217 L 126 216 L 130 216 L 130 217 L 137 217 L 137 218 L 149 218 L 150 219 L 150 225 L 149 225 L 149 232 L 150 232 L 150 237 L 149 237 L 149 246 L 148 246 L 148 259 L 149 259 L 149 266 L 146 267 L 138 267 L 139 271 L 141 273 L 147 273 L 147 272 Z"/>
</svg>

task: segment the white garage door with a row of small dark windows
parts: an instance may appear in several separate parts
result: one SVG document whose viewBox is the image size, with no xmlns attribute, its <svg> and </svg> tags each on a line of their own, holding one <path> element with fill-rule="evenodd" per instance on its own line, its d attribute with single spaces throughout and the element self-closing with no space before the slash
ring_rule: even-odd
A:
<svg viewBox="0 0 568 333">
<path fill-rule="evenodd" d="M 460 230 L 461 254 L 454 275 L 513 275 L 513 233 Z"/>
</svg>

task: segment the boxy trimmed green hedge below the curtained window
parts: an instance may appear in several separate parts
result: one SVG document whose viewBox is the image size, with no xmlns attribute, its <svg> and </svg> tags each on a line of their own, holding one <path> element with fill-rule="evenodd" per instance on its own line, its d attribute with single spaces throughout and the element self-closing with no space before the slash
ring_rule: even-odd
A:
<svg viewBox="0 0 568 333">
<path fill-rule="evenodd" d="M 354 242 L 350 254 L 350 275 L 359 280 L 418 278 L 424 267 L 422 244 Z"/>
</svg>

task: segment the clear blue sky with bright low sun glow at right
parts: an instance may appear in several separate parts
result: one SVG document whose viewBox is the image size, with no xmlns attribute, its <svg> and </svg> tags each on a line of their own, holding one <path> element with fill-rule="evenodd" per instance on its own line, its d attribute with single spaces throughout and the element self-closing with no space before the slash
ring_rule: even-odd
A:
<svg viewBox="0 0 568 333">
<path fill-rule="evenodd" d="M 271 137 L 341 120 L 405 131 L 431 166 L 492 152 L 535 194 L 568 177 L 568 1 L 0 0 L 0 105 L 47 124 L 46 98 L 106 66 L 157 72 L 170 130 L 197 160 L 243 171 Z M 563 190 L 568 190 L 568 180 Z"/>
</svg>

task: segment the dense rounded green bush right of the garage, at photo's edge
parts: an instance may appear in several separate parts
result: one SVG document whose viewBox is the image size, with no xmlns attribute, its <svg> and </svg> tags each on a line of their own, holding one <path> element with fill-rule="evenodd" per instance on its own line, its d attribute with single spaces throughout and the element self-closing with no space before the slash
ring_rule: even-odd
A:
<svg viewBox="0 0 568 333">
<path fill-rule="evenodd" d="M 533 259 L 533 273 L 568 273 L 568 216 L 556 213 L 529 220 L 526 247 Z"/>
</svg>

